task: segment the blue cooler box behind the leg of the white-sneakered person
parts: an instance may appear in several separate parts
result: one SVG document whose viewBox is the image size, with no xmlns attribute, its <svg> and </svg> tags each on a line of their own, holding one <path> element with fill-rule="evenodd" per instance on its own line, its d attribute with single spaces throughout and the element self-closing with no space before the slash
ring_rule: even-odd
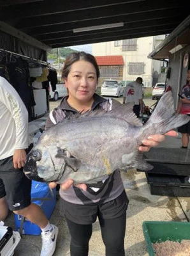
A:
<svg viewBox="0 0 190 256">
<path fill-rule="evenodd" d="M 56 204 L 56 188 L 51 190 L 47 184 L 33 180 L 31 188 L 31 200 L 34 204 L 40 205 L 41 209 L 49 220 Z M 27 219 L 24 220 L 22 216 L 18 214 L 15 214 L 15 228 L 17 231 L 25 235 L 41 234 L 40 227 L 34 223 L 31 223 L 31 221 Z"/>
</svg>

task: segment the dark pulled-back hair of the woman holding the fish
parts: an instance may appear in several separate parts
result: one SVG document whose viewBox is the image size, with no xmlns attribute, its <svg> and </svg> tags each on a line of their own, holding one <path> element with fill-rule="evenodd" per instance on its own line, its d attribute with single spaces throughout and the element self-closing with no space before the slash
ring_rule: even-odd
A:
<svg viewBox="0 0 190 256">
<path fill-rule="evenodd" d="M 64 77 L 68 77 L 68 74 L 71 70 L 71 65 L 73 65 L 73 63 L 75 63 L 76 61 L 79 61 L 79 60 L 84 60 L 84 61 L 90 62 L 96 69 L 96 76 L 98 79 L 99 67 L 96 62 L 96 59 L 94 58 L 94 56 L 92 54 L 89 54 L 86 52 L 72 52 L 71 54 L 69 54 L 69 56 L 66 58 L 66 61 L 64 63 L 64 67 L 62 68 L 62 74 L 61 74 L 62 79 L 64 79 Z"/>
</svg>

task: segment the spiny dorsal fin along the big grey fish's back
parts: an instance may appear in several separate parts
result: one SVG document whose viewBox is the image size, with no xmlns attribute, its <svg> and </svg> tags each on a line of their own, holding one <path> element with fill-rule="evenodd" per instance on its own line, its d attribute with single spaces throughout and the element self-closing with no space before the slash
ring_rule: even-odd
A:
<svg viewBox="0 0 190 256">
<path fill-rule="evenodd" d="M 91 116 L 112 116 L 112 117 L 117 117 L 121 118 L 123 120 L 126 120 L 131 125 L 135 126 L 142 126 L 142 122 L 140 121 L 139 118 L 135 115 L 133 112 L 133 103 L 128 103 L 128 104 L 122 104 L 117 106 L 117 108 L 112 109 L 111 111 L 105 111 L 104 109 L 94 109 L 94 110 L 89 110 L 83 113 L 83 111 L 80 111 L 78 113 L 71 113 L 70 115 L 67 116 L 66 120 L 71 120 L 71 119 L 77 119 L 77 118 L 87 118 Z"/>
</svg>

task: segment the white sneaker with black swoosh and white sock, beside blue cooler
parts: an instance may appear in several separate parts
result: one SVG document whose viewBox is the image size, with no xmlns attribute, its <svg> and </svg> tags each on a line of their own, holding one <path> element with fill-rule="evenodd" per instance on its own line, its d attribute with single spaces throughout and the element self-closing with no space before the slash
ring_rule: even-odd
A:
<svg viewBox="0 0 190 256">
<path fill-rule="evenodd" d="M 42 247 L 40 256 L 52 256 L 55 251 L 58 228 L 51 224 L 52 228 L 46 232 L 41 232 Z"/>
</svg>

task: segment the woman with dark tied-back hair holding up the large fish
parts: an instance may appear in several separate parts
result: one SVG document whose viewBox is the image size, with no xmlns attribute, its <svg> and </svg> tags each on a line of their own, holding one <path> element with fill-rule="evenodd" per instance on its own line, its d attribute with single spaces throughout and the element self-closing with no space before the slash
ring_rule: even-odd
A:
<svg viewBox="0 0 190 256">
<path fill-rule="evenodd" d="M 117 108 L 121 104 L 117 100 L 105 99 L 95 93 L 98 77 L 99 68 L 94 56 L 85 52 L 71 53 L 62 69 L 62 79 L 68 89 L 68 95 L 63 97 L 59 106 L 50 113 L 45 129 L 61 122 L 70 113 L 84 113 L 89 109 L 110 111 Z M 173 132 L 173 135 L 176 135 L 176 132 Z M 149 140 L 143 141 L 144 145 L 139 147 L 139 150 L 148 151 L 150 146 L 156 146 L 163 140 L 164 135 L 152 135 Z M 56 185 L 55 182 L 49 183 L 50 188 Z M 73 186 L 73 180 L 68 179 L 61 184 L 59 194 L 61 211 L 64 212 L 71 235 L 71 256 L 89 254 L 92 224 L 97 218 L 105 244 L 105 255 L 125 255 L 128 197 L 120 170 L 115 170 L 108 179 L 101 180 L 98 184 Z"/>
</svg>

